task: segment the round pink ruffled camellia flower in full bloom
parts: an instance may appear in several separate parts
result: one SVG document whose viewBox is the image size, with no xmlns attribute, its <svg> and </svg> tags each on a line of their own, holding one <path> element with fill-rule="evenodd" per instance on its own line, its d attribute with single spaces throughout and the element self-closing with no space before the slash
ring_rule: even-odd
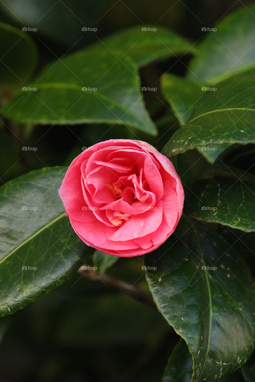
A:
<svg viewBox="0 0 255 382">
<path fill-rule="evenodd" d="M 153 251 L 173 233 L 184 192 L 172 162 L 154 147 L 110 139 L 72 161 L 59 196 L 84 243 L 132 257 Z"/>
</svg>

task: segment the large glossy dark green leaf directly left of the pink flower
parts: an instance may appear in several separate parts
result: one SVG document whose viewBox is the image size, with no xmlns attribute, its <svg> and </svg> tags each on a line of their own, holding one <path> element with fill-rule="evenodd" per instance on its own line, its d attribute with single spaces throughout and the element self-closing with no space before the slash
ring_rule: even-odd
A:
<svg viewBox="0 0 255 382">
<path fill-rule="evenodd" d="M 65 172 L 43 168 L 0 187 L 0 316 L 62 284 L 94 251 L 65 217 L 57 192 Z"/>
</svg>

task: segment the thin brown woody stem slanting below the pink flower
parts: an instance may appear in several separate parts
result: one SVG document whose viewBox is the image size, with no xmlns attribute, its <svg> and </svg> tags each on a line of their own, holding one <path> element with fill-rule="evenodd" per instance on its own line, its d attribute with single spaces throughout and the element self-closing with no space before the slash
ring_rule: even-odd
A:
<svg viewBox="0 0 255 382">
<path fill-rule="evenodd" d="M 90 269 L 83 269 L 84 265 L 80 267 L 78 270 L 78 273 L 84 277 L 89 278 L 93 281 L 101 281 L 106 286 L 113 286 L 113 288 L 116 288 L 127 295 L 131 296 L 132 298 L 137 299 L 138 301 L 141 301 L 142 303 L 145 303 L 147 305 L 150 305 L 152 308 L 157 310 L 157 307 L 152 299 L 152 296 L 150 296 L 148 293 L 142 291 L 141 289 L 136 288 L 133 285 L 130 285 L 126 281 L 120 280 L 119 278 L 110 276 L 106 273 L 103 273 L 101 275 L 96 275 L 93 270 Z M 89 267 L 87 267 L 89 268 Z"/>
</svg>

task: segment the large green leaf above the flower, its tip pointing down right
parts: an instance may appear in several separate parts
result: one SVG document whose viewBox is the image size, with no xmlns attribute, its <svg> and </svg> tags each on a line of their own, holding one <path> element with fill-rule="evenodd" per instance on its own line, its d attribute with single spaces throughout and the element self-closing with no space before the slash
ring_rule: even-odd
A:
<svg viewBox="0 0 255 382">
<path fill-rule="evenodd" d="M 119 60 L 103 44 L 94 44 L 47 65 L 31 85 L 38 90 L 17 93 L 2 111 L 18 122 L 106 122 L 155 135 L 157 129 L 144 107 L 140 87 L 130 57 Z"/>
</svg>

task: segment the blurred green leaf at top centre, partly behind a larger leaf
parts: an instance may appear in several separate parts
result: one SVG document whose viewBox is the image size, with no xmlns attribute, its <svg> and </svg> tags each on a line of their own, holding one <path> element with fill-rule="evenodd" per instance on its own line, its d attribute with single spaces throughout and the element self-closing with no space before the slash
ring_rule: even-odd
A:
<svg viewBox="0 0 255 382">
<path fill-rule="evenodd" d="M 124 29 L 106 37 L 103 43 L 108 49 L 122 50 L 118 57 L 127 54 L 139 67 L 180 54 L 196 53 L 193 43 L 159 25 L 140 24 Z"/>
</svg>

